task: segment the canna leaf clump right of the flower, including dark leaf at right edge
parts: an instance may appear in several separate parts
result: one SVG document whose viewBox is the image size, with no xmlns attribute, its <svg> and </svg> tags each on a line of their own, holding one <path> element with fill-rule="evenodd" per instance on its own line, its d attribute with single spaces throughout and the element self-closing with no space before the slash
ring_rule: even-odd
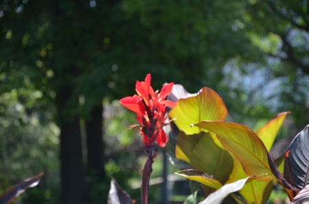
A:
<svg viewBox="0 0 309 204">
<path fill-rule="evenodd" d="M 174 88 L 170 98 L 177 101 L 177 105 L 169 112 L 170 118 L 176 118 L 173 121 L 176 128 L 169 135 L 172 136 L 173 131 L 180 131 L 175 157 L 194 168 L 182 170 L 177 175 L 202 183 L 203 194 L 207 198 L 213 197 L 214 192 L 224 185 L 249 176 L 241 185 L 236 183 L 241 188 L 229 188 L 231 192 L 240 190 L 243 199 L 231 194 L 237 203 L 266 203 L 274 181 L 282 185 L 292 202 L 298 202 L 296 195 L 304 189 L 299 194 L 304 201 L 303 192 L 308 192 L 306 185 L 309 177 L 308 127 L 290 144 L 285 160 L 280 157 L 274 161 L 268 153 L 289 112 L 278 114 L 254 132 L 244 125 L 224 121 L 227 108 L 214 90 L 202 88 L 197 94 L 189 94 L 183 87 Z M 276 164 L 284 168 L 277 168 Z M 220 196 L 220 203 L 224 194 L 216 195 Z M 306 196 L 309 200 L 309 193 Z M 203 201 L 213 202 L 207 199 Z"/>
</svg>

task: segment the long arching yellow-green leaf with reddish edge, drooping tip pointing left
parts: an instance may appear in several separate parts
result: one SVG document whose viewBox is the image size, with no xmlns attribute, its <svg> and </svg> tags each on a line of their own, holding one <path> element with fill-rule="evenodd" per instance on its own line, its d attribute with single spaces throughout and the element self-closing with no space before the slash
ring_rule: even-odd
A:
<svg viewBox="0 0 309 204">
<path fill-rule="evenodd" d="M 201 121 L 196 126 L 218 135 L 220 142 L 234 153 L 247 175 L 264 175 L 258 180 L 278 183 L 290 190 L 297 190 L 279 173 L 262 140 L 249 127 L 225 121 Z"/>
</svg>

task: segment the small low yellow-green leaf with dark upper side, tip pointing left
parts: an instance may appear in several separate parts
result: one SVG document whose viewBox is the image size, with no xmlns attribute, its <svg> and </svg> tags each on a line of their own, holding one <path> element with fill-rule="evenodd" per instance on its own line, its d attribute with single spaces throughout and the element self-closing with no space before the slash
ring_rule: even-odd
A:
<svg viewBox="0 0 309 204">
<path fill-rule="evenodd" d="M 179 172 L 176 172 L 175 174 L 185 177 L 186 179 L 198 181 L 199 183 L 203 183 L 205 186 L 209 186 L 214 189 L 222 187 L 222 184 L 219 181 L 215 180 L 211 175 L 201 170 L 197 169 L 181 170 Z"/>
</svg>

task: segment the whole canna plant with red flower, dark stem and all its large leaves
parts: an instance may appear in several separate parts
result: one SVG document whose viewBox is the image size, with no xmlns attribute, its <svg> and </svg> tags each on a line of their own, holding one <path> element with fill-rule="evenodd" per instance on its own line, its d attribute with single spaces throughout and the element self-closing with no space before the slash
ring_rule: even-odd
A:
<svg viewBox="0 0 309 204">
<path fill-rule="evenodd" d="M 154 92 L 150 81 L 148 74 L 145 81 L 137 81 L 137 95 L 119 101 L 137 114 L 139 125 L 132 127 L 139 127 L 148 155 L 142 170 L 142 204 L 148 203 L 155 142 L 166 145 L 170 162 L 181 169 L 176 175 L 194 186 L 185 203 L 196 203 L 200 189 L 205 196 L 202 204 L 231 203 L 231 199 L 235 203 L 266 203 L 275 182 L 282 186 L 291 203 L 309 201 L 308 126 L 284 155 L 273 160 L 269 151 L 289 112 L 277 114 L 254 132 L 245 125 L 225 121 L 227 107 L 210 88 L 190 94 L 183 86 L 170 83 L 161 92 Z M 117 194 L 111 192 L 109 203 L 117 200 Z"/>
</svg>

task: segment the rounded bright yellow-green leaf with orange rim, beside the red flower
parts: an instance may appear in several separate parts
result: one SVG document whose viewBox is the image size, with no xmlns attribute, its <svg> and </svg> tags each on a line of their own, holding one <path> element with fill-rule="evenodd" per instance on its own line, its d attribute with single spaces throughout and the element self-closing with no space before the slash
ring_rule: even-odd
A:
<svg viewBox="0 0 309 204">
<path fill-rule="evenodd" d="M 221 97 L 210 88 L 202 88 L 195 97 L 179 99 L 176 107 L 170 110 L 170 118 L 186 134 L 201 132 L 198 127 L 190 127 L 201 120 L 225 120 L 227 107 Z"/>
</svg>

